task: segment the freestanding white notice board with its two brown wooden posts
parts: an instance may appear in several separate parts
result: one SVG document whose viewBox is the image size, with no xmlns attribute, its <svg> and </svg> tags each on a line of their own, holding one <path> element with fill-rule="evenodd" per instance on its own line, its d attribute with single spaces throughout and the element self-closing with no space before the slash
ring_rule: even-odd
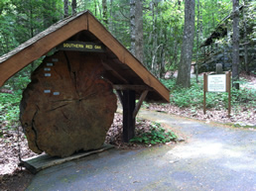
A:
<svg viewBox="0 0 256 191">
<path fill-rule="evenodd" d="M 206 92 L 228 92 L 228 117 L 231 112 L 230 71 L 225 74 L 203 73 L 203 114 L 206 114 Z"/>
</svg>

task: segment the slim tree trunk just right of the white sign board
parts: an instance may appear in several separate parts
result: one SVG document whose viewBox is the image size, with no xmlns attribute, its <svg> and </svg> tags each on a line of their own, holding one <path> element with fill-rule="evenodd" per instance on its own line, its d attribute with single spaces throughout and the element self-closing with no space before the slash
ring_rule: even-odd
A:
<svg viewBox="0 0 256 191">
<path fill-rule="evenodd" d="M 233 0 L 232 85 L 239 89 L 239 0 Z"/>
</svg>

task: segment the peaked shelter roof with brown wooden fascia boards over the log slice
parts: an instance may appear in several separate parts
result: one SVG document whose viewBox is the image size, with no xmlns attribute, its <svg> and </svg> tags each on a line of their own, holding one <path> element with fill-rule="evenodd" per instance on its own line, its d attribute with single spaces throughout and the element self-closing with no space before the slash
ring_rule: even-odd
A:
<svg viewBox="0 0 256 191">
<path fill-rule="evenodd" d="M 147 101 L 169 102 L 169 90 L 89 12 L 80 12 L 54 24 L 18 48 L 0 57 L 0 86 L 34 60 L 66 41 L 103 44 L 98 52 L 107 78 L 118 90 L 149 90 Z"/>
</svg>

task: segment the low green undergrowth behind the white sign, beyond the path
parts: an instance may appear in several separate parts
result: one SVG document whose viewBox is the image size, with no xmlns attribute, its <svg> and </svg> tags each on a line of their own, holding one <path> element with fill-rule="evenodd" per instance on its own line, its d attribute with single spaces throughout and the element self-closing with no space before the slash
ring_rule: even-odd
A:
<svg viewBox="0 0 256 191">
<path fill-rule="evenodd" d="M 203 103 L 203 81 L 199 78 L 199 83 L 192 79 L 192 86 L 190 88 L 175 87 L 175 79 L 162 80 L 162 82 L 171 90 L 170 101 L 171 104 L 179 107 L 202 108 Z M 231 90 L 231 104 L 237 106 L 241 104 L 250 104 L 256 106 L 256 90 L 253 88 L 246 88 L 246 80 L 240 80 L 240 84 L 244 84 L 240 90 L 232 88 Z M 227 108 L 228 94 L 227 93 L 206 93 L 206 107 L 207 108 Z"/>
</svg>

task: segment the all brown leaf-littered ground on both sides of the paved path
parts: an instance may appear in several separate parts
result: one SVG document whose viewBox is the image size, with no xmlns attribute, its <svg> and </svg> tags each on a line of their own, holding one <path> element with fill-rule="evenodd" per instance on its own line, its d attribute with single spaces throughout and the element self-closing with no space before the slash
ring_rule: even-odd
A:
<svg viewBox="0 0 256 191">
<path fill-rule="evenodd" d="M 249 80 L 251 87 L 256 87 L 255 76 L 244 77 Z M 227 117 L 227 111 L 225 109 L 210 109 L 206 111 L 206 115 L 203 115 L 202 110 L 180 108 L 172 104 L 150 104 L 144 106 L 144 108 L 196 120 L 203 120 L 206 121 L 206 123 L 217 122 L 233 127 L 245 127 L 253 131 L 255 131 L 256 127 L 256 110 L 250 106 L 232 108 L 230 118 Z M 139 120 L 136 123 L 136 128 L 148 131 L 149 125 L 149 121 Z M 0 129 L 0 190 L 24 190 L 34 175 L 25 168 L 18 166 L 19 157 L 25 159 L 38 154 L 29 149 L 21 127 L 6 128 L 1 126 Z M 133 149 L 145 146 L 136 143 L 122 143 L 122 116 L 118 113 L 115 114 L 113 125 L 106 137 L 106 143 L 114 144 L 120 149 Z"/>
</svg>

